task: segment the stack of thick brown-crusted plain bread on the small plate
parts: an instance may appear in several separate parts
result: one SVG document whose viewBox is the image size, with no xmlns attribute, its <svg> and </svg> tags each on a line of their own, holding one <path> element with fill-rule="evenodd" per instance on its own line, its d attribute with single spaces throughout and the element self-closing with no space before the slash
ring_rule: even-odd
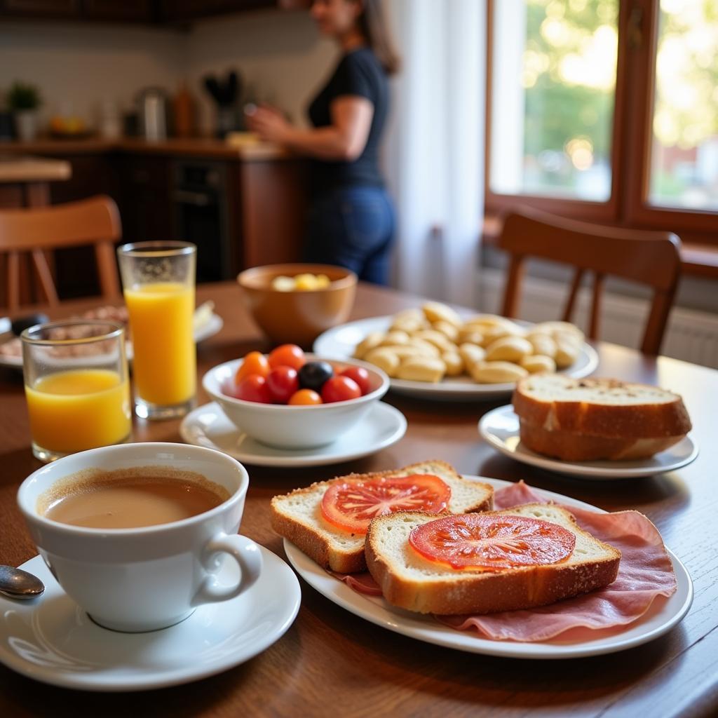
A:
<svg viewBox="0 0 718 718">
<path fill-rule="evenodd" d="M 640 459 L 691 430 L 681 397 L 646 384 L 537 374 L 513 393 L 521 441 L 565 461 Z"/>
</svg>

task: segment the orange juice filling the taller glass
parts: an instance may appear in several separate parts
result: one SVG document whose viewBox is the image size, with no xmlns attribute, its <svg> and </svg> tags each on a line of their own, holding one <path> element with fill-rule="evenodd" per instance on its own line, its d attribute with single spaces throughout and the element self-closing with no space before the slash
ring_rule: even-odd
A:
<svg viewBox="0 0 718 718">
<path fill-rule="evenodd" d="M 125 289 L 135 391 L 150 404 L 171 406 L 195 396 L 197 355 L 192 335 L 195 288 L 176 282 Z"/>
</svg>

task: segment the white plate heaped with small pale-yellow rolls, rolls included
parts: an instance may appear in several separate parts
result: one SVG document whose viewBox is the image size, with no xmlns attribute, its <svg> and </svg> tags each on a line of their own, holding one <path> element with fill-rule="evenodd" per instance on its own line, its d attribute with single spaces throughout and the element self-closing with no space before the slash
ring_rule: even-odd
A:
<svg viewBox="0 0 718 718">
<path fill-rule="evenodd" d="M 506 396 L 534 373 L 581 378 L 598 355 L 569 322 L 531 324 L 497 314 L 461 315 L 439 302 L 324 332 L 314 352 L 383 369 L 393 391 L 442 401 Z"/>
</svg>

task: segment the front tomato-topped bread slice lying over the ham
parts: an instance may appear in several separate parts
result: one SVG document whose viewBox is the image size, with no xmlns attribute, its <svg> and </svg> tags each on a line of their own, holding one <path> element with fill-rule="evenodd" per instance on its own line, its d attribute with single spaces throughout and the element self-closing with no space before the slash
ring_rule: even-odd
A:
<svg viewBox="0 0 718 718">
<path fill-rule="evenodd" d="M 611 584 L 621 558 L 569 511 L 543 503 L 465 516 L 381 516 L 370 524 L 365 553 L 389 603 L 440 615 L 549 605 Z"/>
</svg>

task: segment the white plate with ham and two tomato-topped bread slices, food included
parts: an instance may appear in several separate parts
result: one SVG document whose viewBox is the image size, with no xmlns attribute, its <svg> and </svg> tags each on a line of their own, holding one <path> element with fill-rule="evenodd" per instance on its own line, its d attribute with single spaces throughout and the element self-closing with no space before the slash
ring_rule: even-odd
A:
<svg viewBox="0 0 718 718">
<path fill-rule="evenodd" d="M 437 510 L 437 482 L 451 513 Z M 275 497 L 271 513 L 290 563 L 329 600 L 469 653 L 623 651 L 671 630 L 693 600 L 685 567 L 640 513 L 444 462 L 318 482 Z"/>
</svg>

